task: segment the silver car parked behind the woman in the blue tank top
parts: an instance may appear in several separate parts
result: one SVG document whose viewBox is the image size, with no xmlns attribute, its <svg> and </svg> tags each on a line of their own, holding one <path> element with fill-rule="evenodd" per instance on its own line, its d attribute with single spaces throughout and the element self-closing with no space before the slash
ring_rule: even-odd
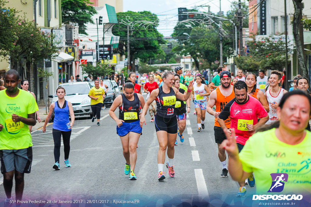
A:
<svg viewBox="0 0 311 207">
<path fill-rule="evenodd" d="M 62 83 L 58 87 L 65 88 L 65 100 L 72 103 L 75 116 L 90 115 L 92 117 L 91 98 L 88 97 L 92 86 L 88 82 Z M 49 95 L 49 97 L 53 98 L 52 102 L 58 100 L 56 91 L 54 96 Z"/>
</svg>

